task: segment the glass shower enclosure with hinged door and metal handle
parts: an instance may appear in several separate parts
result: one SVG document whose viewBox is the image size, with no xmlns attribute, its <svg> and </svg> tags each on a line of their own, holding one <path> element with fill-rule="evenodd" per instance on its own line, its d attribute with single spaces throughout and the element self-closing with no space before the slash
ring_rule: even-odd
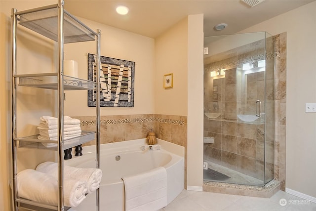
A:
<svg viewBox="0 0 316 211">
<path fill-rule="evenodd" d="M 204 47 L 203 179 L 265 186 L 275 173 L 275 38 L 205 37 Z"/>
</svg>

